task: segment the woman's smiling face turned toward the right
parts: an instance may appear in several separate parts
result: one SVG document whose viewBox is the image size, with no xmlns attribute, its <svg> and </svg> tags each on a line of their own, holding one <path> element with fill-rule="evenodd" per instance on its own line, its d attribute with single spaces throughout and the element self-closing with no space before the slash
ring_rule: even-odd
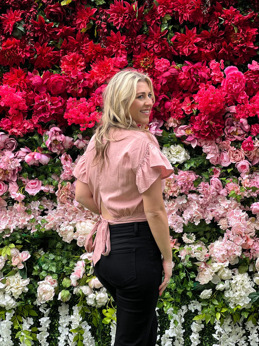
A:
<svg viewBox="0 0 259 346">
<path fill-rule="evenodd" d="M 145 127 L 148 124 L 152 107 L 152 93 L 148 84 L 138 82 L 135 100 L 129 108 L 130 115 L 137 125 Z"/>
</svg>

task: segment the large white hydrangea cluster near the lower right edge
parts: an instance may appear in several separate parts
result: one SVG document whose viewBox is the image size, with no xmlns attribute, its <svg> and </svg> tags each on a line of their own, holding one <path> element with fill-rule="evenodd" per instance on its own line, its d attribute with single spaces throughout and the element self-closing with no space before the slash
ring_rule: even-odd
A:
<svg viewBox="0 0 259 346">
<path fill-rule="evenodd" d="M 248 276 L 248 273 L 237 274 L 232 277 L 228 290 L 224 291 L 224 296 L 229 302 L 229 306 L 234 309 L 238 305 L 243 308 L 249 306 L 250 298 L 248 295 L 256 290 L 255 284 Z"/>
</svg>

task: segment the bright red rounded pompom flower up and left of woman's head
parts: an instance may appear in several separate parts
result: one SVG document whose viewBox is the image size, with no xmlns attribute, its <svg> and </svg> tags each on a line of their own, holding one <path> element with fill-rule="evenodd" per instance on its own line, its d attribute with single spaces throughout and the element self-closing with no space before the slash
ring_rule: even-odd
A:
<svg viewBox="0 0 259 346">
<path fill-rule="evenodd" d="M 61 71 L 76 77 L 79 72 L 85 70 L 85 59 L 78 53 L 69 53 L 61 58 Z"/>
</svg>

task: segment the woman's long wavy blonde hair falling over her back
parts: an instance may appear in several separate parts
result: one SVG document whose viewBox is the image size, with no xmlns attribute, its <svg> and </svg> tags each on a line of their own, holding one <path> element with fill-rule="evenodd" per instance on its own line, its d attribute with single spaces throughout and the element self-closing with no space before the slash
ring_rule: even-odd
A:
<svg viewBox="0 0 259 346">
<path fill-rule="evenodd" d="M 152 81 L 147 74 L 139 73 L 134 69 L 121 70 L 116 73 L 105 88 L 103 99 L 103 117 L 101 125 L 96 129 L 95 149 L 96 154 L 93 160 L 94 164 L 102 162 L 107 158 L 107 149 L 110 141 L 111 129 L 129 129 L 136 131 L 146 131 L 139 128 L 130 115 L 130 106 L 136 98 L 138 82 L 146 82 L 152 93 L 153 102 L 155 95 Z M 149 131 L 146 131 L 149 132 Z"/>
</svg>

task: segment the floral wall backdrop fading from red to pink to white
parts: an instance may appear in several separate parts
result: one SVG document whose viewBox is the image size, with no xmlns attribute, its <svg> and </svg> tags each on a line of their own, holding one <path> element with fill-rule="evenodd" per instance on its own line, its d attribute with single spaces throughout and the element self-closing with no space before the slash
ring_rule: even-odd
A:
<svg viewBox="0 0 259 346">
<path fill-rule="evenodd" d="M 148 128 L 174 167 L 157 345 L 258 345 L 258 12 L 258 0 L 0 1 L 3 345 L 113 343 L 116 307 L 84 250 L 97 216 L 74 200 L 72 172 L 126 67 L 154 82 Z"/>
</svg>

